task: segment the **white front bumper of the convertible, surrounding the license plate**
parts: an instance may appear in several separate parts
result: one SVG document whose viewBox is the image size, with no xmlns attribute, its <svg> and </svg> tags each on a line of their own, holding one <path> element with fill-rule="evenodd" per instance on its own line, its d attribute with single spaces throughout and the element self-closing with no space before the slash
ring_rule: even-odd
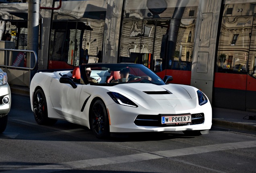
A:
<svg viewBox="0 0 256 173">
<path fill-rule="evenodd" d="M 117 108 L 118 107 L 118 108 Z M 167 114 L 167 111 L 154 110 L 154 109 L 138 109 L 131 108 L 122 105 L 108 105 L 107 106 L 110 118 L 110 132 L 115 133 L 130 133 L 130 132 L 164 132 L 164 131 L 192 131 L 192 130 L 208 130 L 211 129 L 212 125 L 212 108 L 210 104 L 203 106 L 198 106 L 195 109 L 177 111 L 177 114 L 191 113 L 196 116 L 198 113 L 200 117 L 194 117 L 195 121 L 187 125 L 173 125 L 164 126 L 159 124 L 159 114 Z M 174 113 L 171 113 L 174 115 Z M 149 117 L 155 115 L 157 118 L 156 123 L 138 122 L 138 115 L 143 115 L 143 117 Z M 152 117 L 152 116 L 151 116 Z M 152 119 L 150 119 L 151 121 Z"/>
</svg>

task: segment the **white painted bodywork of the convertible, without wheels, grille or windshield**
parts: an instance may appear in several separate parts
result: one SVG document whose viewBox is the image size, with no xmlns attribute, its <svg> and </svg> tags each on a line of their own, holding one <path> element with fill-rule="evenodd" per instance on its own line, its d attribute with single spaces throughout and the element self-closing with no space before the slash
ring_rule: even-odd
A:
<svg viewBox="0 0 256 173">
<path fill-rule="evenodd" d="M 41 87 L 47 100 L 49 118 L 63 119 L 90 128 L 89 109 L 93 100 L 98 98 L 103 101 L 109 113 L 110 132 L 161 132 L 211 129 L 211 104 L 208 102 L 200 106 L 196 94 L 198 89 L 194 87 L 180 84 L 127 83 L 114 86 L 77 84 L 77 88 L 74 89 L 70 84 L 60 83 L 60 74 L 70 76 L 71 73 L 70 71 L 38 72 L 31 81 L 31 103 L 33 103 L 33 93 L 38 87 Z M 107 71 L 94 71 L 91 76 L 94 76 L 94 78 L 100 77 L 99 83 L 104 83 L 108 75 Z M 154 91 L 169 91 L 171 94 L 150 95 L 145 93 Z M 119 105 L 109 97 L 107 92 L 120 93 L 133 101 L 138 107 Z M 33 111 L 33 104 L 31 104 L 31 109 Z M 176 115 L 188 113 L 204 113 L 204 122 L 195 125 L 164 127 L 137 126 L 134 123 L 138 115 Z"/>
</svg>

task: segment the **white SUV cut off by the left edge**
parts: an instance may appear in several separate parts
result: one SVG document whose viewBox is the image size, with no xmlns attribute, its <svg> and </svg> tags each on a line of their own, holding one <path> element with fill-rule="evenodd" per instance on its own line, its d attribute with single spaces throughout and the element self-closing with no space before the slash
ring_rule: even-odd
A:
<svg viewBox="0 0 256 173">
<path fill-rule="evenodd" d="M 7 114 L 10 112 L 11 93 L 7 74 L 0 69 L 0 133 L 7 125 Z"/>
</svg>

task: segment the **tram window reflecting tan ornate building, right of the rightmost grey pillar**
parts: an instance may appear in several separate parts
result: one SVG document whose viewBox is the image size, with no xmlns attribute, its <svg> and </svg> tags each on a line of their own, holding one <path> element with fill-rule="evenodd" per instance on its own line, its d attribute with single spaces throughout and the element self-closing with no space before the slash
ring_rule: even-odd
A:
<svg viewBox="0 0 256 173">
<path fill-rule="evenodd" d="M 252 16 L 223 17 L 217 72 L 247 74 Z"/>
</svg>

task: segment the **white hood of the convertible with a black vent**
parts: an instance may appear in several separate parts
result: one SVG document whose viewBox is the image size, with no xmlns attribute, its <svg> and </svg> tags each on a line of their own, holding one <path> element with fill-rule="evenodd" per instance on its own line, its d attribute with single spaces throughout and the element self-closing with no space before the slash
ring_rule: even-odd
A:
<svg viewBox="0 0 256 173">
<path fill-rule="evenodd" d="M 164 110 L 177 113 L 196 107 L 195 90 L 179 84 L 119 84 L 116 91 L 148 110 Z M 171 111 L 173 110 L 173 111 Z"/>
</svg>

